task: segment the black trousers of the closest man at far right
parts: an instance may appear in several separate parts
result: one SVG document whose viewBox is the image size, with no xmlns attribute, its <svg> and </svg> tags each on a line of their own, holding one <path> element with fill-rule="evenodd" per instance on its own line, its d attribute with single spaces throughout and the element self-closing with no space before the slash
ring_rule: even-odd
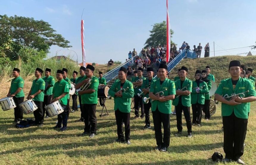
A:
<svg viewBox="0 0 256 165">
<path fill-rule="evenodd" d="M 241 119 L 235 116 L 223 116 L 225 158 L 238 160 L 243 155 L 243 143 L 247 131 L 248 119 Z M 234 142 L 234 145 L 233 145 Z"/>
</svg>

